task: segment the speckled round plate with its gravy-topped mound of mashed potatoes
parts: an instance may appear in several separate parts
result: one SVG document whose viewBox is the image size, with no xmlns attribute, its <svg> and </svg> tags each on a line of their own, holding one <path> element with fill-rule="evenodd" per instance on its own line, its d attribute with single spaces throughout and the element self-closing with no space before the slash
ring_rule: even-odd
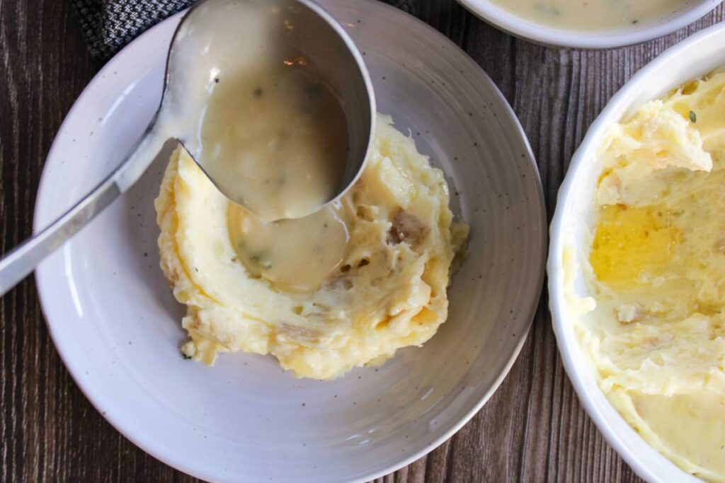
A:
<svg viewBox="0 0 725 483">
<path fill-rule="evenodd" d="M 541 295 L 542 187 L 492 80 L 399 9 L 319 3 L 363 54 L 383 113 L 360 184 L 321 223 L 260 227 L 168 146 L 36 272 L 91 403 L 206 481 L 368 481 L 415 461 L 492 397 Z M 133 148 L 178 20 L 130 43 L 73 106 L 36 228 Z M 343 251 L 324 249 L 340 235 Z"/>
</svg>

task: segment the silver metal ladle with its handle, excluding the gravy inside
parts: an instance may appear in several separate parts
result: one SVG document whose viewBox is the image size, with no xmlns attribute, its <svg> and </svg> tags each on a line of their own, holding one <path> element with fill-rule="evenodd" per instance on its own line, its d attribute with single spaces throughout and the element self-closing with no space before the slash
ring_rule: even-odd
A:
<svg viewBox="0 0 725 483">
<path fill-rule="evenodd" d="M 354 184 L 365 164 L 376 108 L 362 56 L 347 33 L 311 0 L 201 0 L 186 12 L 174 33 L 167 54 L 162 100 L 136 148 L 83 200 L 0 260 L 0 296 L 128 190 L 144 174 L 167 140 L 175 138 L 183 146 L 188 144 L 189 154 L 194 157 L 194 143 L 189 140 L 197 132 L 203 113 L 181 106 L 185 105 L 186 98 L 197 94 L 193 90 L 200 87 L 194 82 L 194 75 L 205 75 L 213 80 L 212 70 L 217 63 L 214 62 L 215 51 L 209 46 L 219 45 L 218 41 L 224 40 L 231 50 L 220 54 L 227 55 L 224 60 L 229 62 L 228 55 L 233 52 L 235 41 L 240 40 L 233 35 L 235 20 L 239 20 L 238 15 L 250 4 L 283 10 L 286 19 L 297 30 L 294 35 L 297 48 L 315 56 L 320 78 L 340 96 L 347 118 L 350 150 L 343 180 L 334 199 Z M 199 164 L 198 160 L 196 162 Z M 224 194 L 229 196 L 230 193 Z"/>
</svg>

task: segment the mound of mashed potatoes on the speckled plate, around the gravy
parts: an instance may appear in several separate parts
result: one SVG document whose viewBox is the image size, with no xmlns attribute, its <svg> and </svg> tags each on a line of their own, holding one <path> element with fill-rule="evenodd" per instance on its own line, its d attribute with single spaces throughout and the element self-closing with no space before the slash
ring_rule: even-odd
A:
<svg viewBox="0 0 725 483">
<path fill-rule="evenodd" d="M 272 354 L 297 377 L 331 379 L 423 344 L 447 317 L 451 264 L 468 235 L 448 203 L 443 173 L 378 117 L 365 172 L 336 207 L 348 236 L 341 262 L 314 290 L 287 290 L 240 260 L 237 208 L 177 150 L 156 209 L 161 266 L 187 306 L 183 353 L 206 364 L 227 351 Z"/>
</svg>

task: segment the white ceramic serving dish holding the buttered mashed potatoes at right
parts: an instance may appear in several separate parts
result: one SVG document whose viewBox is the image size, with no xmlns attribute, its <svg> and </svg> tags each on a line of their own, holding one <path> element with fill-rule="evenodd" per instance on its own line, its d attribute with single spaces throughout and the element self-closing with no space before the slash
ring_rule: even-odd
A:
<svg viewBox="0 0 725 483">
<path fill-rule="evenodd" d="M 584 234 L 592 229 L 593 197 L 601 165 L 597 147 L 608 126 L 634 112 L 646 101 L 663 96 L 671 88 L 725 65 L 725 24 L 714 25 L 660 54 L 637 72 L 609 101 L 602 114 L 589 127 L 573 156 L 561 185 L 552 220 L 547 271 L 550 308 L 556 340 L 567 374 L 582 406 L 606 440 L 639 476 L 650 482 L 695 482 L 651 448 L 610 405 L 595 380 L 595 369 L 581 350 L 574 333 L 574 320 L 567 309 L 564 287 L 563 250 L 571 247 L 576 261 L 586 260 L 589 245 Z M 590 242 L 590 239 L 589 239 Z M 576 263 L 575 291 L 587 295 L 581 264 Z"/>
</svg>

